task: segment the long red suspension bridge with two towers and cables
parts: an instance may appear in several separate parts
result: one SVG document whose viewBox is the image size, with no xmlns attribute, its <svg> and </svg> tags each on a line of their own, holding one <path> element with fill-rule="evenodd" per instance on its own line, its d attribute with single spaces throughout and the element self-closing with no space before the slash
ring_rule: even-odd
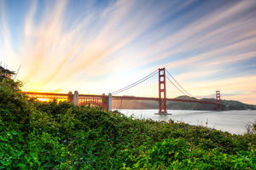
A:
<svg viewBox="0 0 256 170">
<path fill-rule="evenodd" d="M 158 75 L 158 81 L 153 82 L 157 86 L 157 95 L 158 97 L 145 97 L 145 96 L 134 96 L 134 95 L 120 95 L 120 94 L 130 94 L 131 89 L 136 88 L 138 86 L 142 86 L 143 82 L 150 81 L 152 77 L 155 77 Z M 167 81 L 168 83 L 172 84 L 172 87 L 177 88 L 177 90 L 187 96 L 193 97 L 187 90 L 185 90 L 172 75 L 169 73 L 169 71 L 166 70 L 166 68 L 160 68 L 151 74 L 149 74 L 146 77 L 143 77 L 137 82 L 134 82 L 130 84 L 129 86 L 126 86 L 125 88 L 120 88 L 119 90 L 116 90 L 112 93 L 109 93 L 108 95 L 102 94 L 102 95 L 92 95 L 92 94 L 79 94 L 78 91 L 75 91 L 74 94 L 72 92 L 69 92 L 68 94 L 54 94 L 54 93 L 38 93 L 38 92 L 23 92 L 25 93 L 29 98 L 37 98 L 37 99 L 61 99 L 61 100 L 67 100 L 68 102 L 73 103 L 74 105 L 97 105 L 101 106 L 102 109 L 111 111 L 112 110 L 112 100 L 151 100 L 151 101 L 157 101 L 159 104 L 159 114 L 167 114 L 167 105 L 166 103 L 168 101 L 177 101 L 177 102 L 194 102 L 194 103 L 201 103 L 201 104 L 207 104 L 207 105 L 216 105 L 217 111 L 222 110 L 221 99 L 220 99 L 220 93 L 219 91 L 216 91 L 216 101 L 205 101 L 205 100 L 199 100 L 195 98 L 191 99 L 174 99 L 174 98 L 168 98 L 167 97 Z M 152 81 L 152 80 L 151 80 Z M 144 88 L 144 87 L 143 87 Z M 141 91 L 141 90 L 140 90 Z M 157 96 L 156 94 L 153 94 L 154 96 Z"/>
</svg>

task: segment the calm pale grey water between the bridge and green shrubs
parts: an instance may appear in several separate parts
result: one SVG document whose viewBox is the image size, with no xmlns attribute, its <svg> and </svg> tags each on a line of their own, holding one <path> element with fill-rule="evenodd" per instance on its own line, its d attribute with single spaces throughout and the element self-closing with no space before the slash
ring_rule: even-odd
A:
<svg viewBox="0 0 256 170">
<path fill-rule="evenodd" d="M 247 124 L 256 122 L 256 111 L 187 111 L 168 110 L 172 115 L 154 115 L 158 110 L 119 110 L 125 116 L 139 119 L 151 118 L 154 121 L 186 122 L 191 125 L 212 127 L 229 133 L 243 134 L 247 132 Z"/>
</svg>

